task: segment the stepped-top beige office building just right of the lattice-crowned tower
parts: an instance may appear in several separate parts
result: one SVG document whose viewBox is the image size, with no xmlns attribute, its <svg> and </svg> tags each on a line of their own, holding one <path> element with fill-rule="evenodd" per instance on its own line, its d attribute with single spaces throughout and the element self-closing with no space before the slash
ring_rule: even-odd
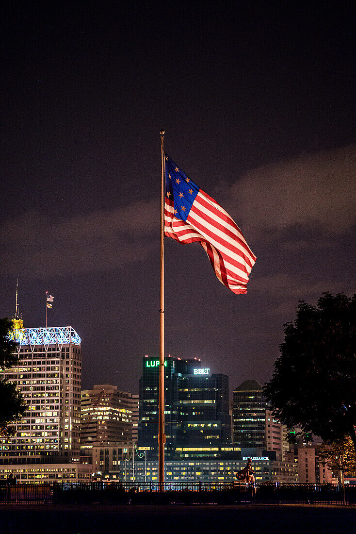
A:
<svg viewBox="0 0 356 534">
<path fill-rule="evenodd" d="M 136 402 L 129 391 L 110 384 L 96 384 L 81 395 L 81 451 L 90 454 L 93 442 L 132 442 L 132 410 Z"/>
</svg>

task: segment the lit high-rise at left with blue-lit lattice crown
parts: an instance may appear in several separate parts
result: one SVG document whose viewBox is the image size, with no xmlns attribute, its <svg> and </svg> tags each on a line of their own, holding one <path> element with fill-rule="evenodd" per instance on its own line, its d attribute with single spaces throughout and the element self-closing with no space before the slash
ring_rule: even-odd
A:
<svg viewBox="0 0 356 534">
<path fill-rule="evenodd" d="M 81 338 L 72 326 L 13 324 L 19 363 L 0 376 L 17 384 L 27 410 L 14 437 L 0 441 L 0 478 L 9 471 L 20 482 L 86 478 L 79 473 Z"/>
</svg>

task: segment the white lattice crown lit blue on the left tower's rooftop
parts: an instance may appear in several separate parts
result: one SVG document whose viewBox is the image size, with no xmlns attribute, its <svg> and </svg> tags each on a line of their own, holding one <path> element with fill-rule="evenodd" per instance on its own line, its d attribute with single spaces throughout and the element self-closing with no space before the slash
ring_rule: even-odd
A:
<svg viewBox="0 0 356 534">
<path fill-rule="evenodd" d="M 15 329 L 10 337 L 21 347 L 29 345 L 31 348 L 36 345 L 58 345 L 58 347 L 70 343 L 80 345 L 82 341 L 72 326 Z"/>
</svg>

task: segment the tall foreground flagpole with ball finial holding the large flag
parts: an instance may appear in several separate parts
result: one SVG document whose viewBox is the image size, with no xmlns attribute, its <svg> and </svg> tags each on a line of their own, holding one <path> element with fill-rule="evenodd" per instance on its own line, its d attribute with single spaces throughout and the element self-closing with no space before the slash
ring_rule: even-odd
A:
<svg viewBox="0 0 356 534">
<path fill-rule="evenodd" d="M 159 433 L 158 433 L 158 463 L 160 491 L 164 487 L 164 130 L 161 134 L 161 285 L 160 285 L 160 381 L 159 381 Z"/>
</svg>

